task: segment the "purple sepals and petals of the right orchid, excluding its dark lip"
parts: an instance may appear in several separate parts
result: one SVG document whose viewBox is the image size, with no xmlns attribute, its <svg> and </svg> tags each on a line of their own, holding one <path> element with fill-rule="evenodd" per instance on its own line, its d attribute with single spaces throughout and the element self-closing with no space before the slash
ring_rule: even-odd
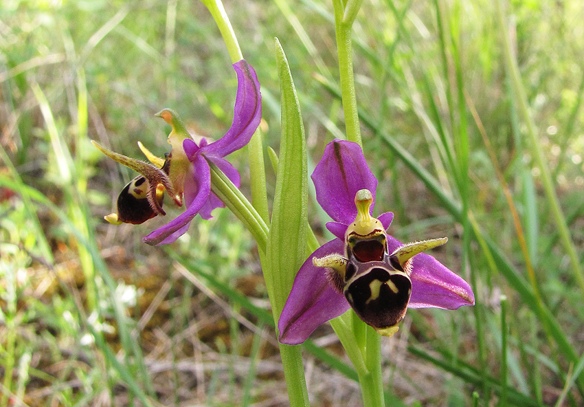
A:
<svg viewBox="0 0 584 407">
<path fill-rule="evenodd" d="M 345 296 L 333 288 L 328 274 L 322 267 L 316 267 L 313 259 L 344 255 L 344 235 L 357 214 L 355 194 L 361 189 L 368 189 L 374 199 L 377 188 L 377 179 L 367 166 L 361 147 L 342 140 L 334 140 L 326 146 L 312 179 L 318 203 L 334 219 L 326 227 L 337 239 L 322 245 L 300 267 L 278 321 L 279 340 L 284 344 L 304 342 L 323 322 L 349 309 Z M 378 219 L 387 229 L 393 214 L 385 212 Z M 390 253 L 402 245 L 388 236 Z M 409 308 L 458 309 L 462 305 L 474 304 L 474 294 L 469 284 L 434 257 L 416 254 L 407 269 L 412 281 Z"/>
</svg>

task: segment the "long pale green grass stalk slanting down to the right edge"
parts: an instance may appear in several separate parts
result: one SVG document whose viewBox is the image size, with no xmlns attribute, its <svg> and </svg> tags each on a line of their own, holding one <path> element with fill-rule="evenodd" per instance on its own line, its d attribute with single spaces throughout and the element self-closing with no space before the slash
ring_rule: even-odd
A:
<svg viewBox="0 0 584 407">
<path fill-rule="evenodd" d="M 566 254 L 570 259 L 572 265 L 572 272 L 574 273 L 574 278 L 578 282 L 581 292 L 584 294 L 584 270 L 579 261 L 576 248 L 574 247 L 574 242 L 570 237 L 570 230 L 565 221 L 556 190 L 554 188 L 554 183 L 552 181 L 552 175 L 550 174 L 550 168 L 546 162 L 545 157 L 543 157 L 543 151 L 541 148 L 541 143 L 537 139 L 537 131 L 535 130 L 535 123 L 533 122 L 532 115 L 529 111 L 529 106 L 527 102 L 527 96 L 523 84 L 521 83 L 521 76 L 519 74 L 519 67 L 517 67 L 517 60 L 513 55 L 511 50 L 511 40 L 508 34 L 508 28 L 506 25 L 506 20 L 503 14 L 502 0 L 496 1 L 497 5 L 497 22 L 499 23 L 499 31 L 502 33 L 503 46 L 504 46 L 504 58 L 505 65 L 507 68 L 508 75 L 511 79 L 511 87 L 513 87 L 513 93 L 517 96 L 517 102 L 519 106 L 519 112 L 523 116 L 524 122 L 527 126 L 527 135 L 531 144 L 530 152 L 535 161 L 535 164 L 539 167 L 541 171 L 541 182 L 543 184 L 543 190 L 546 192 L 546 197 L 548 198 L 548 203 L 552 209 L 552 214 L 554 216 L 554 221 L 558 228 L 558 233 L 560 235 L 560 240 L 563 244 Z"/>
</svg>

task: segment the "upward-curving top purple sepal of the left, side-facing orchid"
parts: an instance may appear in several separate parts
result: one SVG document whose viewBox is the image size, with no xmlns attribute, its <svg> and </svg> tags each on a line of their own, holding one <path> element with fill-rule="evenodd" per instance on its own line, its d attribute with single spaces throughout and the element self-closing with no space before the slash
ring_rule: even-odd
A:
<svg viewBox="0 0 584 407">
<path fill-rule="evenodd" d="M 233 67 L 237 74 L 237 96 L 231 128 L 216 142 L 201 146 L 202 151 L 219 157 L 245 146 L 262 118 L 262 96 L 256 71 L 245 59 L 234 63 Z"/>
</svg>

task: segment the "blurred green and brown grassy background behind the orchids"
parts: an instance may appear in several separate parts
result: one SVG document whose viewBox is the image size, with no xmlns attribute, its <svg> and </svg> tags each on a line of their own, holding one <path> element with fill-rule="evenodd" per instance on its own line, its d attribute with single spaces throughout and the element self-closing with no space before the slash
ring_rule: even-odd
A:
<svg viewBox="0 0 584 407">
<path fill-rule="evenodd" d="M 368 0 L 355 23 L 377 209 L 394 211 L 402 241 L 449 236 L 434 254 L 477 297 L 459 311 L 410 310 L 383 340 L 390 406 L 584 404 L 584 5 L 504 6 L 502 25 L 492 1 Z M 313 167 L 344 137 L 330 1 L 225 8 L 258 72 L 264 144 L 276 151 L 280 39 Z M 153 114 L 163 107 L 220 137 L 235 88 L 202 3 L 3 1 L 0 406 L 287 405 L 245 228 L 217 210 L 177 243 L 144 245 L 167 219 L 105 223 L 134 175 L 89 143 L 139 157 L 140 140 L 162 155 L 169 128 Z M 249 196 L 247 155 L 234 156 Z M 325 217 L 315 205 L 309 215 L 326 241 Z M 312 338 L 313 405 L 359 405 L 330 327 Z"/>
</svg>

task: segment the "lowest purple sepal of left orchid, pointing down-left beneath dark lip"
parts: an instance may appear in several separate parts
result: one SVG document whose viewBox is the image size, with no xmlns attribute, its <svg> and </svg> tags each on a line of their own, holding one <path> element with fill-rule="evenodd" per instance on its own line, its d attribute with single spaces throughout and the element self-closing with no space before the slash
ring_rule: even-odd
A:
<svg viewBox="0 0 584 407">
<path fill-rule="evenodd" d="M 202 155 L 195 155 L 192 170 L 185 180 L 186 210 L 178 217 L 148 234 L 143 240 L 149 245 L 172 243 L 188 230 L 190 221 L 199 213 L 211 193 L 209 164 Z M 188 203 L 190 201 L 190 203 Z"/>
</svg>

